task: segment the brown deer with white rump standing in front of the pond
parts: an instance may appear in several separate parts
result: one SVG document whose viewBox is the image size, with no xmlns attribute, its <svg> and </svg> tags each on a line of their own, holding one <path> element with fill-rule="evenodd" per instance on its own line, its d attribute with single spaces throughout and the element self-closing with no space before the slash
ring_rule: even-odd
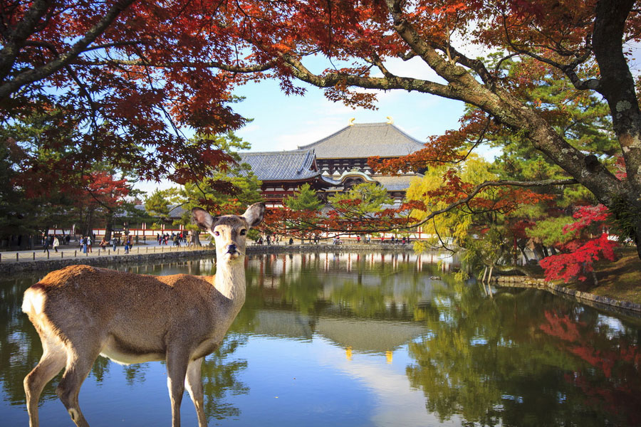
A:
<svg viewBox="0 0 641 427">
<path fill-rule="evenodd" d="M 24 379 L 29 426 L 38 427 L 38 400 L 63 368 L 56 394 L 78 427 L 80 386 L 99 355 L 118 364 L 165 360 L 172 427 L 180 426 L 186 388 L 207 426 L 201 367 L 222 342 L 245 301 L 246 233 L 263 220 L 265 205 L 241 216 L 212 217 L 192 209 L 192 221 L 214 238 L 214 276 L 151 276 L 89 265 L 48 273 L 24 292 L 22 310 L 38 332 L 43 354 Z"/>
</svg>

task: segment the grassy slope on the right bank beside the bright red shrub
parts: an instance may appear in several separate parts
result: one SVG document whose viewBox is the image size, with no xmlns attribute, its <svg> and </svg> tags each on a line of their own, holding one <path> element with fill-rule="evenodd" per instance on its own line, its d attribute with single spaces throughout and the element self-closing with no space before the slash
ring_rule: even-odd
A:
<svg viewBox="0 0 641 427">
<path fill-rule="evenodd" d="M 568 283 L 567 288 L 590 292 L 594 295 L 610 297 L 615 300 L 641 304 L 641 260 L 635 248 L 623 248 L 614 263 L 599 261 L 595 263 L 598 285 L 589 278 L 585 282 Z M 563 283 L 560 283 L 563 285 Z"/>
</svg>

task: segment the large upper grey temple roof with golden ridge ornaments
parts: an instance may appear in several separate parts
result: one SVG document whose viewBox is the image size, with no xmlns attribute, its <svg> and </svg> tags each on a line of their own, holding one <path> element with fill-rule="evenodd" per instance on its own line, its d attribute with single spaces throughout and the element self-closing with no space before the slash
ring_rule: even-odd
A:
<svg viewBox="0 0 641 427">
<path fill-rule="evenodd" d="M 400 157 L 422 149 L 424 144 L 389 123 L 355 123 L 308 145 L 317 159 L 359 159 L 370 156 Z"/>
</svg>

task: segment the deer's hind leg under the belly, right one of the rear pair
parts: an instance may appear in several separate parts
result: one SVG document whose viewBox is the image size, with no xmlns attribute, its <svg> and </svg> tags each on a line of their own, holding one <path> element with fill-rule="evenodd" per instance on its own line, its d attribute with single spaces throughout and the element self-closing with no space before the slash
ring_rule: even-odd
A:
<svg viewBox="0 0 641 427">
<path fill-rule="evenodd" d="M 87 343 L 88 344 L 88 343 Z M 100 347 L 98 345 L 94 346 L 95 348 L 89 349 L 85 346 L 76 347 L 73 344 L 70 345 L 68 349 L 68 354 L 70 355 L 67 359 L 67 367 L 65 373 L 58 384 L 58 389 L 56 393 L 62 401 L 63 405 L 67 408 L 71 420 L 78 427 L 89 427 L 85 416 L 80 411 L 80 405 L 78 404 L 78 394 L 80 393 L 80 386 L 83 385 L 83 381 L 89 375 L 91 367 L 93 367 L 93 362 L 100 354 Z"/>
</svg>

